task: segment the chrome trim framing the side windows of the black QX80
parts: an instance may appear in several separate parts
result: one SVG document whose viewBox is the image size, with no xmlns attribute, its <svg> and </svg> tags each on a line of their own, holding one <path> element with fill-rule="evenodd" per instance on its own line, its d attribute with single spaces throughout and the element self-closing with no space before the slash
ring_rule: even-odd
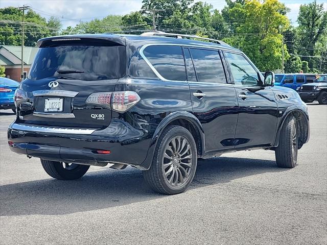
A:
<svg viewBox="0 0 327 245">
<path fill-rule="evenodd" d="M 224 50 L 224 51 L 230 51 L 230 52 L 235 52 L 237 54 L 242 54 L 242 52 L 237 52 L 235 50 L 232 50 L 228 47 L 208 47 L 208 46 L 202 46 L 202 45 L 196 45 L 196 44 L 193 44 L 193 45 L 190 45 L 190 44 L 177 44 L 177 43 L 148 43 L 148 44 L 145 44 L 143 45 L 140 50 L 139 50 L 139 54 L 141 55 L 141 57 L 145 60 L 145 62 L 149 65 L 149 67 L 151 68 L 151 70 L 154 72 L 154 74 L 162 81 L 166 81 L 166 82 L 186 82 L 188 83 L 189 81 L 178 81 L 178 80 L 169 80 L 169 79 L 166 79 L 164 77 L 162 77 L 159 72 L 154 68 L 154 66 L 151 64 L 151 62 L 147 59 L 147 57 L 144 55 L 143 51 L 145 50 L 145 48 L 147 48 L 148 46 L 159 46 L 159 45 L 166 45 L 166 46 L 180 46 L 181 48 L 182 47 L 194 47 L 194 48 L 207 48 L 207 49 L 213 49 L 213 50 Z M 227 82 L 227 81 L 226 81 Z M 189 82 L 189 83 L 192 83 L 192 82 Z M 193 82 L 193 83 L 198 83 L 198 82 Z M 201 83 L 204 83 L 204 82 L 201 82 Z M 208 83 L 208 84 L 219 84 L 219 83 Z M 227 84 L 227 83 L 226 83 Z M 222 84 L 221 85 L 226 85 L 226 84 Z M 232 85 L 232 84 L 230 84 Z"/>
</svg>

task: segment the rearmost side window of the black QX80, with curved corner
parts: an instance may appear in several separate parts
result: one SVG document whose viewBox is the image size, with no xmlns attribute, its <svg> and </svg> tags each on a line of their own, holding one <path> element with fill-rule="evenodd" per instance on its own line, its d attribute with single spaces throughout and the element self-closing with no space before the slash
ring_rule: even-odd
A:
<svg viewBox="0 0 327 245">
<path fill-rule="evenodd" d="M 185 64 L 181 46 L 148 46 L 143 51 L 143 54 L 165 79 L 186 81 Z"/>
</svg>

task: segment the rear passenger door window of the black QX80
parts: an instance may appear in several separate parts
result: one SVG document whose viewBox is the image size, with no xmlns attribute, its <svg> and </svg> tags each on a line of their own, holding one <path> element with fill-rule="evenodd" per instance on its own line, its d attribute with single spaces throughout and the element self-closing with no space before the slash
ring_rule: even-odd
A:
<svg viewBox="0 0 327 245">
<path fill-rule="evenodd" d="M 226 83 L 223 64 L 218 51 L 190 49 L 199 82 Z"/>
</svg>

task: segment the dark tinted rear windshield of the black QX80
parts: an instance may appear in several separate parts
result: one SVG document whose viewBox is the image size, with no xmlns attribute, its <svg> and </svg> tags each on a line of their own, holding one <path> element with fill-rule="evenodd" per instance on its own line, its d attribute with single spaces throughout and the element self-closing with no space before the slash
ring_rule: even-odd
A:
<svg viewBox="0 0 327 245">
<path fill-rule="evenodd" d="M 125 46 L 41 47 L 28 78 L 115 79 L 125 75 L 125 68 Z"/>
</svg>

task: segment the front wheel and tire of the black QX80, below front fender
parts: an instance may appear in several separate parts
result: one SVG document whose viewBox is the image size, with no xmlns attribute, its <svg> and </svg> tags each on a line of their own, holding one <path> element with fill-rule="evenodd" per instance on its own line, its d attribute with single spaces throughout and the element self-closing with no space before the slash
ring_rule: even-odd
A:
<svg viewBox="0 0 327 245">
<path fill-rule="evenodd" d="M 278 167 L 295 167 L 298 150 L 297 130 L 295 117 L 292 115 L 288 116 L 279 137 L 278 147 L 275 149 Z"/>
</svg>

